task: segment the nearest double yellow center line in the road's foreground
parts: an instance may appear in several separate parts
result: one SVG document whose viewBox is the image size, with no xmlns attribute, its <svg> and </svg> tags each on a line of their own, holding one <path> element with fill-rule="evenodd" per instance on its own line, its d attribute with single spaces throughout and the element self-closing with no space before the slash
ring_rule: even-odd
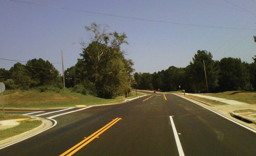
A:
<svg viewBox="0 0 256 156">
<path fill-rule="evenodd" d="M 88 138 L 85 138 L 83 141 L 79 142 L 77 145 L 73 146 L 71 149 L 65 151 L 60 156 L 72 156 L 74 153 L 76 153 L 79 149 L 83 148 L 85 145 L 87 145 L 89 142 L 94 140 L 95 138 L 98 138 L 100 134 L 102 134 L 104 131 L 106 131 L 108 128 L 116 124 L 116 122 L 119 122 L 122 118 L 117 117 L 116 119 L 109 122 L 104 127 L 100 128 L 98 131 L 90 135 Z"/>
</svg>

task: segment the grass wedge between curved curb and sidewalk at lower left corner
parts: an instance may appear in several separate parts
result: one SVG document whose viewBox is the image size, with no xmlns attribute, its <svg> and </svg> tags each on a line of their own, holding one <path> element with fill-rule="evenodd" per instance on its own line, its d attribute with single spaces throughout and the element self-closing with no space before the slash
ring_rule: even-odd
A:
<svg viewBox="0 0 256 156">
<path fill-rule="evenodd" d="M 23 116 L 24 117 L 24 116 Z M 41 120 L 25 120 L 21 122 L 18 126 L 7 128 L 0 131 L 0 140 L 24 133 L 33 128 L 36 128 L 42 124 Z"/>
</svg>

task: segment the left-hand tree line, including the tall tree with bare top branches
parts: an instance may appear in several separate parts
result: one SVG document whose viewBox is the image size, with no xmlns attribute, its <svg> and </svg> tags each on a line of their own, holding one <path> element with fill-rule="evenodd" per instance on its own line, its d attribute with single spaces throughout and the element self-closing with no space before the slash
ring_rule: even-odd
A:
<svg viewBox="0 0 256 156">
<path fill-rule="evenodd" d="M 64 71 L 65 86 L 71 91 L 111 99 L 129 96 L 132 82 L 132 60 L 124 57 L 122 44 L 128 44 L 125 33 L 106 32 L 106 26 L 92 23 L 85 29 L 92 34 L 90 44 L 81 41 L 83 52 L 77 63 Z M 59 91 L 63 76 L 43 59 L 16 63 L 11 69 L 0 69 L 0 82 L 6 89 L 39 89 Z"/>
</svg>

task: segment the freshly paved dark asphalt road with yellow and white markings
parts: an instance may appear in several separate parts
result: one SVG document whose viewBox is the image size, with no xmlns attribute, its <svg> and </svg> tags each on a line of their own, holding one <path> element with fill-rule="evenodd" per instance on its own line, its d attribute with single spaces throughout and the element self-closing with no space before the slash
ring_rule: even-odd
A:
<svg viewBox="0 0 256 156">
<path fill-rule="evenodd" d="M 55 117 L 58 122 L 55 127 L 1 149 L 0 155 L 57 156 L 75 145 L 77 147 L 67 154 L 72 151 L 77 156 L 256 154 L 256 133 L 174 94 L 165 94 L 166 99 L 163 94 L 152 95 Z M 80 108 L 71 110 L 77 109 Z M 40 117 L 51 117 L 71 110 Z M 50 111 L 55 110 L 47 110 Z M 42 113 L 45 112 L 33 115 Z M 109 126 L 105 126 L 107 124 Z M 101 132 L 97 132 L 104 126 Z M 176 137 L 173 127 L 179 133 L 176 133 Z M 92 136 L 93 133 L 95 135 Z M 180 142 L 180 146 L 177 142 Z"/>
</svg>

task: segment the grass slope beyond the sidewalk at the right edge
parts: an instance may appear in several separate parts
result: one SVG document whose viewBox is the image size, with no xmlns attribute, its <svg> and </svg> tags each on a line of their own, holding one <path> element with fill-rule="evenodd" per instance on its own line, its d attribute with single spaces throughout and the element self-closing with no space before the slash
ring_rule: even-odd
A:
<svg viewBox="0 0 256 156">
<path fill-rule="evenodd" d="M 256 105 L 256 92 L 230 91 L 230 92 L 221 92 L 221 93 L 204 94 L 204 95 L 230 99 L 230 100 L 235 100 L 235 101 Z"/>
</svg>

